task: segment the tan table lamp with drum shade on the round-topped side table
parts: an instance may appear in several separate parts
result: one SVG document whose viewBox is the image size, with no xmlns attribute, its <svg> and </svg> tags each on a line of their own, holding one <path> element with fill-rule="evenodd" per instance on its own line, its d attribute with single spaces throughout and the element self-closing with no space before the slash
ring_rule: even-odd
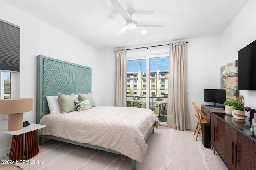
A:
<svg viewBox="0 0 256 170">
<path fill-rule="evenodd" d="M 8 131 L 22 129 L 23 113 L 32 110 L 32 98 L 0 99 L 0 114 L 8 114 Z"/>
</svg>

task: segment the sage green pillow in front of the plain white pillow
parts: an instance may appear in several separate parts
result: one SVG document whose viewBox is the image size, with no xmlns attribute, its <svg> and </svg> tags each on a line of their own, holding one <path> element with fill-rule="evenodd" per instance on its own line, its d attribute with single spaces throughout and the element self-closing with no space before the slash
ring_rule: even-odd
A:
<svg viewBox="0 0 256 170">
<path fill-rule="evenodd" d="M 71 93 L 70 95 L 58 93 L 58 98 L 62 113 L 76 111 L 76 105 L 74 104 L 74 101 L 77 100 L 77 98 L 74 93 Z"/>
</svg>

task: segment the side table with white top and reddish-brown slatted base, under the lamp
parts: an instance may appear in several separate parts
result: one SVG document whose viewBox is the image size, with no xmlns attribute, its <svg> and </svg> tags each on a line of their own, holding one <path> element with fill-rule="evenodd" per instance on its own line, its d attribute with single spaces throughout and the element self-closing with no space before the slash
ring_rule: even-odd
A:
<svg viewBox="0 0 256 170">
<path fill-rule="evenodd" d="M 3 133 L 13 135 L 10 148 L 10 160 L 27 160 L 39 152 L 36 130 L 45 125 L 31 123 L 18 131 L 2 130 Z"/>
</svg>

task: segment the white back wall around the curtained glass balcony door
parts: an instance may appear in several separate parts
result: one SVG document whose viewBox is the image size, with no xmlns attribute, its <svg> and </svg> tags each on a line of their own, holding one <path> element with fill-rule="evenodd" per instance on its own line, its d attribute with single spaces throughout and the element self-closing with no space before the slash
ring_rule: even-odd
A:
<svg viewBox="0 0 256 170">
<path fill-rule="evenodd" d="M 220 88 L 220 36 L 202 37 L 196 39 L 186 39 L 187 49 L 187 88 L 190 90 L 188 94 L 188 109 L 190 129 L 194 129 L 196 125 L 196 117 L 194 115 L 194 107 L 192 102 L 198 106 L 205 103 L 203 97 L 204 88 Z M 161 44 L 168 44 L 163 42 Z M 157 44 L 148 44 L 145 46 L 153 46 Z M 134 47 L 126 47 L 130 49 Z M 169 52 L 168 46 L 154 47 L 140 50 L 127 51 L 128 57 L 138 57 L 149 54 L 161 54 Z M 105 50 L 104 59 L 102 59 L 102 105 L 114 105 L 114 52 L 113 50 Z M 103 61 L 104 60 L 104 61 Z M 103 64 L 104 63 L 104 64 Z M 108 70 L 108 71 L 104 71 Z"/>
</svg>

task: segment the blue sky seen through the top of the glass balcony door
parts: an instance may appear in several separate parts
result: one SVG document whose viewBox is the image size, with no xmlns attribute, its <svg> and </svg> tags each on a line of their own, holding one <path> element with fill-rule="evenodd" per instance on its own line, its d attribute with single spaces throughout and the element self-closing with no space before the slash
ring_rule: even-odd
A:
<svg viewBox="0 0 256 170">
<path fill-rule="evenodd" d="M 129 60 L 127 61 L 127 72 L 139 72 L 140 62 L 142 61 L 142 71 L 146 71 L 146 59 Z M 150 71 L 165 71 L 169 70 L 169 57 L 157 57 L 149 59 Z"/>
</svg>

